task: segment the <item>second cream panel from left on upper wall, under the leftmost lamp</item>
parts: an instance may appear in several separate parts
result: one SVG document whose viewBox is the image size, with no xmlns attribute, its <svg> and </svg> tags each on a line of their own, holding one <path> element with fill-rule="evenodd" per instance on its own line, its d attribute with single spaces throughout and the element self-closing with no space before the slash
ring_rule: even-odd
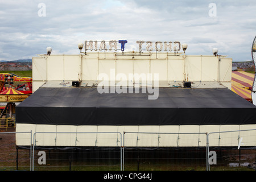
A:
<svg viewBox="0 0 256 182">
<path fill-rule="evenodd" d="M 48 56 L 47 80 L 64 80 L 64 56 Z"/>
</svg>

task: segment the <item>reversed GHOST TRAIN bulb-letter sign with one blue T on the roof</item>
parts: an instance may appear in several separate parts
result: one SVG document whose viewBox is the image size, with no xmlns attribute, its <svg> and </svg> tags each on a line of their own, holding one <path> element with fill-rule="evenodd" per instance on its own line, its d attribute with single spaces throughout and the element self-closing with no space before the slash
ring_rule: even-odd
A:
<svg viewBox="0 0 256 182">
<path fill-rule="evenodd" d="M 79 48 L 85 47 L 86 51 L 118 51 L 121 50 L 122 52 L 125 51 L 125 44 L 127 40 L 110 40 L 105 41 L 102 40 L 98 42 L 97 40 L 85 40 L 85 44 L 79 44 Z M 139 52 L 141 51 L 180 51 L 181 44 L 180 42 L 152 42 L 152 41 L 143 41 L 138 40 L 136 42 L 139 47 Z"/>
</svg>

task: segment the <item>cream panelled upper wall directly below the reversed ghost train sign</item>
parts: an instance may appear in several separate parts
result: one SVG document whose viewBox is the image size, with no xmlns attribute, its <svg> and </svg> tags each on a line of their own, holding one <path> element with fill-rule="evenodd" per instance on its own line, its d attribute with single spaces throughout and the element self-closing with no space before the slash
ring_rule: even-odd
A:
<svg viewBox="0 0 256 182">
<path fill-rule="evenodd" d="M 41 56 L 33 57 L 33 80 L 77 79 L 80 71 L 80 55 Z M 215 56 L 187 55 L 185 71 L 189 80 L 217 81 L 220 75 L 220 78 L 225 77 L 224 81 L 230 81 L 230 61 L 232 62 L 232 59 L 222 58 L 221 63 L 218 63 L 218 58 Z M 218 64 L 220 64 L 220 73 L 218 73 Z M 183 56 L 167 56 L 166 53 L 158 53 L 158 59 L 155 59 L 155 56 L 135 56 L 135 59 L 131 59 L 131 56 L 115 57 L 114 53 L 89 53 L 82 55 L 81 67 L 82 80 L 88 81 L 97 80 L 98 73 L 109 75 L 110 69 L 125 74 L 159 73 L 159 80 L 183 81 L 184 78 Z"/>
</svg>

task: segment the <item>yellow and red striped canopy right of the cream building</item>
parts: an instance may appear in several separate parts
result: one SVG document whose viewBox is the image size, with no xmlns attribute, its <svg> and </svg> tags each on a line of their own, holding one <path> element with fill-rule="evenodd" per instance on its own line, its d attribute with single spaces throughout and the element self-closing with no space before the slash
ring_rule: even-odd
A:
<svg viewBox="0 0 256 182">
<path fill-rule="evenodd" d="M 254 74 L 243 71 L 232 72 L 232 91 L 247 101 L 251 101 L 251 89 L 253 86 Z"/>
</svg>

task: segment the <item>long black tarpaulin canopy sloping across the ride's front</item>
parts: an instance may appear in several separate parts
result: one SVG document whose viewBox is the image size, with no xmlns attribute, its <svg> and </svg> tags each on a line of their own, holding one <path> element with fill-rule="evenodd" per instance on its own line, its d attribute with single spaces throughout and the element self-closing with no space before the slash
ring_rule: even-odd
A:
<svg viewBox="0 0 256 182">
<path fill-rule="evenodd" d="M 16 123 L 45 125 L 244 125 L 256 106 L 228 88 L 159 88 L 98 93 L 97 88 L 39 88 L 16 107 Z"/>
</svg>

